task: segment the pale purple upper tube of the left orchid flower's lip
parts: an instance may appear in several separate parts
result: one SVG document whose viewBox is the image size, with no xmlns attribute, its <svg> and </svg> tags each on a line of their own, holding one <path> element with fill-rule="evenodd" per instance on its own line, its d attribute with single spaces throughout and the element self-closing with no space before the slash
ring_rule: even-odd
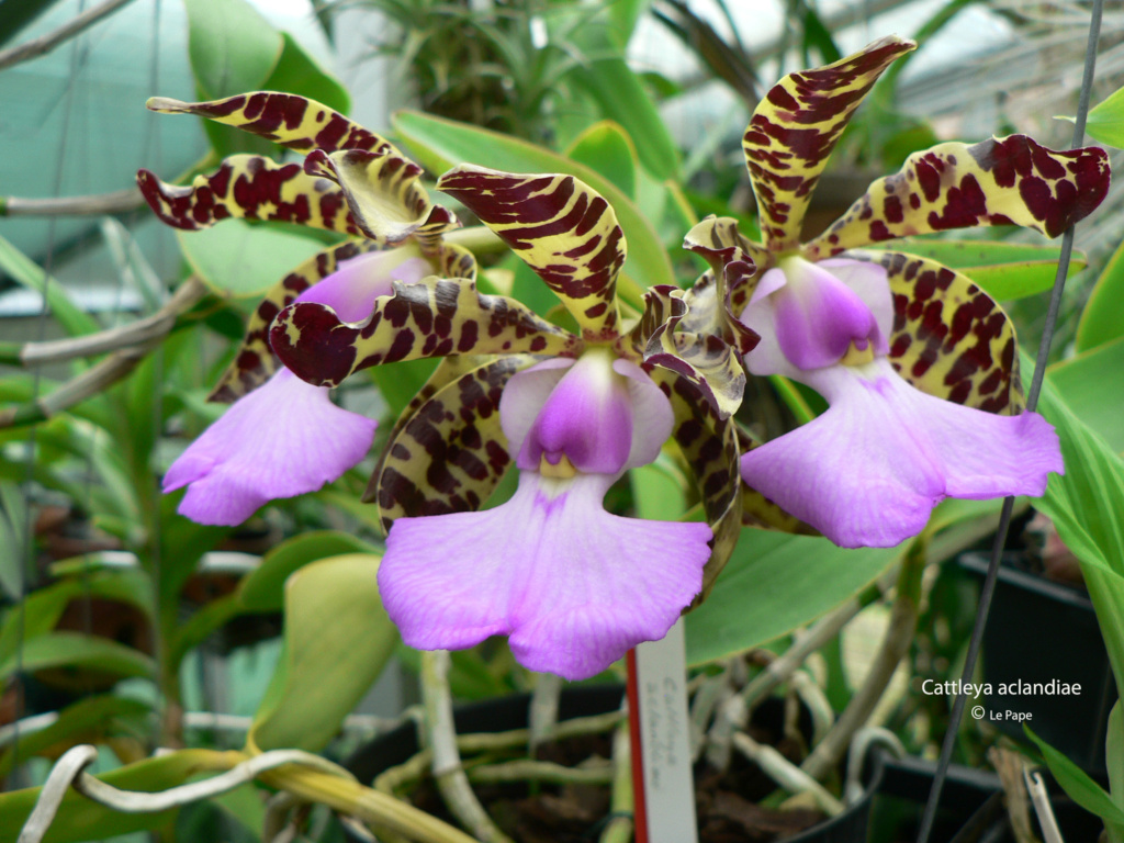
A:
<svg viewBox="0 0 1124 843">
<path fill-rule="evenodd" d="M 433 266 L 422 257 L 402 260 L 401 252 L 369 252 L 339 264 L 339 269 L 308 288 L 297 301 L 327 305 L 344 321 L 362 321 L 371 315 L 374 300 L 393 292 L 391 283 L 411 284 L 433 274 Z"/>
</svg>

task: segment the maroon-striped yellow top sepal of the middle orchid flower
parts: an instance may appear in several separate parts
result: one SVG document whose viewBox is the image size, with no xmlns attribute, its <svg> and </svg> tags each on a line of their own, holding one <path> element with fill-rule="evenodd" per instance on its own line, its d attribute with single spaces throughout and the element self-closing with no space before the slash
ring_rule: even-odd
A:
<svg viewBox="0 0 1124 843">
<path fill-rule="evenodd" d="M 437 189 L 460 200 L 562 299 L 590 342 L 617 333 L 625 236 L 609 203 L 572 175 L 518 175 L 461 165 Z"/>
</svg>

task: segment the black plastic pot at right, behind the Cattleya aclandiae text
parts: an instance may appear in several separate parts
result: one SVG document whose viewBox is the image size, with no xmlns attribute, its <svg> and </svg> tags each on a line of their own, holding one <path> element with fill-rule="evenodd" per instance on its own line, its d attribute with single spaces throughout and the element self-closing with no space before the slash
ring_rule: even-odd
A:
<svg viewBox="0 0 1124 843">
<path fill-rule="evenodd" d="M 966 553 L 960 564 L 987 574 L 988 558 Z M 1031 715 L 1027 725 L 1086 770 L 1104 774 L 1108 713 L 1116 686 L 1093 602 L 1072 587 L 1000 564 L 991 613 L 984 634 L 984 677 L 994 694 L 979 704 L 988 723 L 1025 740 L 1023 727 L 1005 711 Z M 1079 695 L 1000 694 L 1013 682 L 1078 683 Z M 969 700 L 971 706 L 973 700 Z"/>
</svg>

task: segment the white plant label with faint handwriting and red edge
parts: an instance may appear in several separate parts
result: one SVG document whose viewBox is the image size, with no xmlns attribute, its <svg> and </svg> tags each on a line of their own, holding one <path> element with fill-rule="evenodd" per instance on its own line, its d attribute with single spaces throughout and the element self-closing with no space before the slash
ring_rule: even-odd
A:
<svg viewBox="0 0 1124 843">
<path fill-rule="evenodd" d="M 637 645 L 636 686 L 647 843 L 697 843 L 681 617 L 662 641 Z"/>
</svg>

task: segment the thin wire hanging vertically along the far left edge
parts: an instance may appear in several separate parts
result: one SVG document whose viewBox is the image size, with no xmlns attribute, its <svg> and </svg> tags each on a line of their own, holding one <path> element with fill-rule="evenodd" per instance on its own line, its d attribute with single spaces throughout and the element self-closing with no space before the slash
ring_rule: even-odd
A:
<svg viewBox="0 0 1124 843">
<path fill-rule="evenodd" d="M 83 11 L 85 7 L 85 0 L 80 0 L 79 2 L 79 13 Z M 58 164 L 55 167 L 55 179 L 52 187 L 52 196 L 56 199 L 62 194 L 63 188 L 63 170 L 66 163 L 66 149 L 70 138 L 70 125 L 71 115 L 74 110 L 74 88 L 75 80 L 78 78 L 78 67 L 80 61 L 80 46 L 81 39 L 75 38 L 71 43 L 70 48 L 70 72 L 67 74 L 66 91 L 64 94 L 65 102 L 63 103 L 63 121 L 62 121 L 62 137 L 58 142 Z M 47 221 L 47 248 L 46 257 L 43 262 L 43 306 L 39 308 L 39 315 L 37 317 L 38 325 L 36 327 L 37 338 L 43 342 L 46 337 L 47 332 L 47 316 L 51 312 L 51 305 L 48 293 L 51 292 L 51 271 L 54 268 L 54 256 L 55 256 L 55 229 L 56 229 L 57 218 L 51 217 Z M 39 391 L 43 387 L 42 383 L 42 369 L 36 368 L 31 372 L 31 405 L 35 406 L 39 401 Z M 31 575 L 35 565 L 35 528 L 34 522 L 31 520 L 31 487 L 35 482 L 35 451 L 36 451 L 36 439 L 38 433 L 38 424 L 31 424 L 27 432 L 27 454 L 25 457 L 25 469 L 24 469 L 24 532 L 22 532 L 22 546 L 20 550 L 24 552 L 22 564 L 19 570 L 19 602 L 16 607 L 16 716 L 13 719 L 15 724 L 18 724 L 20 718 L 24 716 L 25 706 L 25 689 L 24 689 L 24 644 L 25 636 L 27 634 L 27 591 L 28 591 L 28 578 Z M 17 726 L 16 734 L 12 738 L 12 767 L 15 770 L 19 764 L 19 729 Z"/>
</svg>

